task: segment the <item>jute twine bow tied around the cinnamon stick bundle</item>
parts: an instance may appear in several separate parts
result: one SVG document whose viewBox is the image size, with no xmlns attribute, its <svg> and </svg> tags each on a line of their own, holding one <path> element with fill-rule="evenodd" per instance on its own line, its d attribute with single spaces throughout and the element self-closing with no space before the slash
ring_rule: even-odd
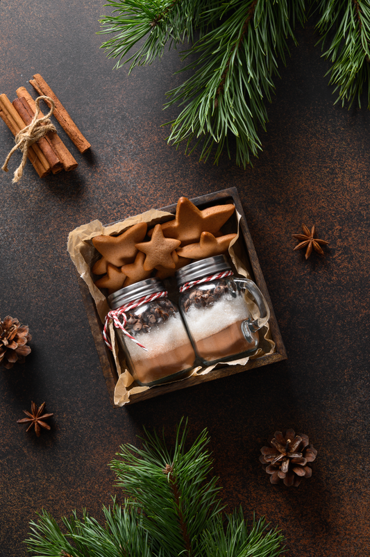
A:
<svg viewBox="0 0 370 557">
<path fill-rule="evenodd" d="M 37 116 L 40 114 L 40 101 L 42 101 L 42 99 L 45 99 L 49 101 L 49 103 L 51 103 L 51 109 L 46 116 L 43 116 L 42 118 L 37 118 Z M 17 133 L 17 135 L 15 136 L 16 144 L 12 148 L 8 156 L 6 157 L 5 163 L 1 167 L 1 170 L 3 170 L 4 172 L 8 172 L 8 162 L 10 160 L 10 157 L 12 156 L 12 153 L 15 153 L 17 149 L 19 149 L 19 151 L 22 151 L 23 153 L 22 162 L 17 168 L 17 170 L 15 170 L 12 183 L 19 182 L 19 180 L 23 176 L 23 169 L 26 165 L 29 147 L 31 147 L 31 145 L 37 142 L 40 138 L 43 138 L 44 135 L 46 135 L 49 131 L 56 131 L 56 127 L 53 126 L 53 124 L 51 124 L 51 121 L 49 120 L 55 108 L 53 99 L 46 96 L 37 97 L 35 103 L 36 103 L 36 112 L 35 112 L 35 116 L 32 119 L 31 124 L 28 124 L 28 126 L 26 126 L 25 128 L 23 128 Z"/>
</svg>

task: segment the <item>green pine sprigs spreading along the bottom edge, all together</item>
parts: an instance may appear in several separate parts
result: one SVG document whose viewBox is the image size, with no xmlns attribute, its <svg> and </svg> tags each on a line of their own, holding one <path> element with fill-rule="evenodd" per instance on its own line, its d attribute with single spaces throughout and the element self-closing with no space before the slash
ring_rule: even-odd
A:
<svg viewBox="0 0 370 557">
<path fill-rule="evenodd" d="M 240 508 L 224 515 L 206 431 L 185 448 L 187 425 L 177 428 L 173 449 L 146 433 L 142 449 L 126 444 L 110 463 L 125 492 L 103 508 L 101 526 L 86 512 L 62 519 L 46 510 L 31 522 L 26 540 L 35 557 L 278 557 L 283 537 L 264 519 L 249 529 Z"/>
</svg>

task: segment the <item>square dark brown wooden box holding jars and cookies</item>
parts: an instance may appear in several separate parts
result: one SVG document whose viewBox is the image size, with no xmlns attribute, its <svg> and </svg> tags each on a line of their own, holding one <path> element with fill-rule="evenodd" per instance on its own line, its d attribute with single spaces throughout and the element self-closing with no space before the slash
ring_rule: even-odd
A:
<svg viewBox="0 0 370 557">
<path fill-rule="evenodd" d="M 269 326 L 270 326 L 272 340 L 274 340 L 276 344 L 276 350 L 274 354 L 266 354 L 264 356 L 260 356 L 258 358 L 249 360 L 246 363 L 246 365 L 232 365 L 232 366 L 225 365 L 224 367 L 216 367 L 215 369 L 212 370 L 212 372 L 205 375 L 191 376 L 183 381 L 168 383 L 167 385 L 158 385 L 144 392 L 131 394 L 130 402 L 128 404 L 133 404 L 134 402 L 151 399 L 152 397 L 158 397 L 160 394 L 164 394 L 175 390 L 185 389 L 187 387 L 192 387 L 192 385 L 199 385 L 199 383 L 204 383 L 205 381 L 213 381 L 214 379 L 219 379 L 221 377 L 226 377 L 228 375 L 244 372 L 246 371 L 246 369 L 252 369 L 253 367 L 260 367 L 262 365 L 271 364 L 274 362 L 278 362 L 280 360 L 285 360 L 287 358 L 287 354 L 283 344 L 283 339 L 281 338 L 280 335 L 278 322 L 276 321 L 274 309 L 271 305 L 269 292 L 267 291 L 267 286 L 266 283 L 264 282 L 262 270 L 260 268 L 260 264 L 258 263 L 257 254 L 255 253 L 251 235 L 249 233 L 249 229 L 246 224 L 246 218 L 242 208 L 242 203 L 239 198 L 239 194 L 237 192 L 237 188 L 228 188 L 227 190 L 221 190 L 220 192 L 203 195 L 201 197 L 196 197 L 195 199 L 191 199 L 191 201 L 192 203 L 194 203 L 194 205 L 196 205 L 200 209 L 204 209 L 206 207 L 221 204 L 221 203 L 234 203 L 237 212 L 239 213 L 239 215 L 242 215 L 242 218 L 239 223 L 240 226 L 239 241 L 244 243 L 246 255 L 249 260 L 248 271 L 251 274 L 251 278 L 258 285 L 258 288 L 260 288 L 262 294 L 264 294 L 264 297 L 267 300 L 267 304 L 269 304 L 269 308 L 271 312 L 271 317 L 269 319 Z M 171 205 L 169 207 L 162 208 L 160 210 L 175 214 L 176 204 Z M 233 218 L 235 218 L 234 215 L 233 217 L 230 217 L 230 220 Z M 234 224 L 236 226 L 236 219 Z M 225 226 L 227 225 L 228 223 L 226 223 Z M 225 233 L 229 233 L 229 232 L 230 231 L 225 231 Z M 80 276 L 78 276 L 78 284 L 81 289 L 83 302 L 86 308 L 87 318 L 89 319 L 90 322 L 92 335 L 94 337 L 94 341 L 96 344 L 96 350 L 98 351 L 101 367 L 103 369 L 103 375 L 106 379 L 106 385 L 108 388 L 110 401 L 112 403 L 112 406 L 114 406 L 115 408 L 119 408 L 119 406 L 115 405 L 114 402 L 114 392 L 115 392 L 115 385 L 118 381 L 118 374 L 115 368 L 114 360 L 112 358 L 112 353 L 106 346 L 106 343 L 103 341 L 103 337 L 101 334 L 103 330 L 103 326 L 96 312 L 96 306 L 94 304 L 94 300 L 92 299 L 92 296 L 87 288 L 85 281 L 83 281 L 83 279 Z"/>
</svg>

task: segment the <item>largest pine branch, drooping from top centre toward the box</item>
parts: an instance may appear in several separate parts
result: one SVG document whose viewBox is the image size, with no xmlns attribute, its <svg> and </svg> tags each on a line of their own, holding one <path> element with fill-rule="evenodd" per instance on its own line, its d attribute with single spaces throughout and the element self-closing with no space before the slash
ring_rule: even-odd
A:
<svg viewBox="0 0 370 557">
<path fill-rule="evenodd" d="M 236 140 L 237 164 L 251 163 L 261 142 L 258 128 L 266 129 L 265 100 L 271 101 L 273 76 L 278 75 L 278 57 L 285 63 L 287 37 L 294 38 L 290 22 L 303 22 L 303 2 L 287 0 L 231 0 L 221 23 L 192 48 L 198 55 L 183 70 L 193 72 L 178 88 L 168 93 L 166 106 L 186 104 L 171 124 L 167 138 L 178 146 L 186 141 L 192 153 L 203 143 L 201 160 L 215 147 L 215 162 Z M 230 156 L 230 153 L 229 153 Z"/>
</svg>

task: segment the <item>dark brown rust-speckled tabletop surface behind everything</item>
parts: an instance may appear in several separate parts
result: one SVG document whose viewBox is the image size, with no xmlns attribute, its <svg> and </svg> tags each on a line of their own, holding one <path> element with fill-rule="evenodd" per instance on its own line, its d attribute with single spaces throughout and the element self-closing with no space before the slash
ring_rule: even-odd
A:
<svg viewBox="0 0 370 557">
<path fill-rule="evenodd" d="M 0 374 L 0 556 L 26 555 L 28 522 L 101 506 L 116 492 L 108 462 L 143 426 L 188 416 L 207 427 L 228 508 L 265 515 L 291 557 L 369 554 L 369 123 L 365 110 L 333 105 L 328 62 L 312 22 L 297 29 L 269 111 L 263 151 L 246 170 L 226 157 L 199 163 L 165 142 L 165 92 L 180 62 L 112 69 L 99 45 L 103 0 L 1 0 L 1 91 L 40 73 L 65 104 L 91 152 L 69 174 L 11 184 L 1 172 L 0 315 L 33 335 L 24 367 Z M 0 160 L 12 136 L 0 122 Z M 15 168 L 16 157 L 10 167 Z M 283 335 L 288 359 L 127 408 L 110 406 L 66 250 L 69 231 L 236 186 Z M 292 233 L 317 225 L 325 258 L 305 261 Z M 35 438 L 16 423 L 47 401 L 53 429 Z M 276 429 L 307 433 L 319 454 L 298 489 L 273 486 L 258 462 Z"/>
</svg>

